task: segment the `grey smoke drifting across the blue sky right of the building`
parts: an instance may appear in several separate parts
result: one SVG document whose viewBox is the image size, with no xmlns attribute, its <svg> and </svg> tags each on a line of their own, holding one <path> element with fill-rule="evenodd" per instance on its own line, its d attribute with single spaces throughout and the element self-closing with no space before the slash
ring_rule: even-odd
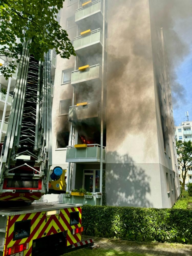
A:
<svg viewBox="0 0 192 256">
<path fill-rule="evenodd" d="M 156 25 L 163 27 L 167 56 L 169 60 L 170 86 L 173 106 L 179 108 L 185 100 L 185 89 L 177 81 L 176 68 L 190 52 L 192 42 L 192 1 L 191 0 L 150 0 Z M 187 40 L 186 40 L 186 37 Z"/>
</svg>

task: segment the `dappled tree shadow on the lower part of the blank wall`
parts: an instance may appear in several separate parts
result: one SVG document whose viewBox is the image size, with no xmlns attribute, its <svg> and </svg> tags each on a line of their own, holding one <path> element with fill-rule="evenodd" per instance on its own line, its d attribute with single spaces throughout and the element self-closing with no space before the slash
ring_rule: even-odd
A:
<svg viewBox="0 0 192 256">
<path fill-rule="evenodd" d="M 151 190 L 145 170 L 136 166 L 127 154 L 120 156 L 114 151 L 106 157 L 113 159 L 113 163 L 106 164 L 107 205 L 153 207 L 146 197 Z"/>
</svg>

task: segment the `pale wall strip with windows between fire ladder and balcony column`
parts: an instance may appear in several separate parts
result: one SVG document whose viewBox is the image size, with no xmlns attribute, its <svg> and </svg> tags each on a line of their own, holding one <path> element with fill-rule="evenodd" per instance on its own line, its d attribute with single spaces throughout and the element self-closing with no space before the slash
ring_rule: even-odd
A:
<svg viewBox="0 0 192 256">
<path fill-rule="evenodd" d="M 68 1 L 63 3 L 63 9 L 61 10 L 60 25 L 63 29 L 67 30 L 70 40 L 76 36 L 77 27 L 73 26 L 67 29 L 67 18 L 75 15 L 75 10 L 78 8 L 78 3 L 68 6 Z M 73 68 L 74 69 L 75 57 L 71 56 L 70 59 L 62 59 L 57 55 L 56 70 L 54 78 L 54 98 L 52 105 L 52 153 L 53 162 L 52 168 L 59 165 L 63 169 L 68 168 L 66 159 L 66 148 L 59 148 L 57 146 L 57 138 L 61 139 L 60 133 L 66 130 L 70 130 L 70 123 L 68 122 L 68 115 L 59 115 L 60 100 L 72 99 L 73 87 L 71 83 L 62 84 L 62 70 Z"/>
</svg>

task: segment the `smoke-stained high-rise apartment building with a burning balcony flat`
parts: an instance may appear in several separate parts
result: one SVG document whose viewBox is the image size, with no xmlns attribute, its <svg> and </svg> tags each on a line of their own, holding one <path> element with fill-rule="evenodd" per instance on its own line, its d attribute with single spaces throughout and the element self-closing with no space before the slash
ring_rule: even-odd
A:
<svg viewBox="0 0 192 256">
<path fill-rule="evenodd" d="M 64 202 L 172 207 L 180 194 L 168 61 L 155 1 L 63 3 L 76 57 L 57 56 L 53 166 Z M 96 196 L 98 192 L 102 196 Z"/>
</svg>

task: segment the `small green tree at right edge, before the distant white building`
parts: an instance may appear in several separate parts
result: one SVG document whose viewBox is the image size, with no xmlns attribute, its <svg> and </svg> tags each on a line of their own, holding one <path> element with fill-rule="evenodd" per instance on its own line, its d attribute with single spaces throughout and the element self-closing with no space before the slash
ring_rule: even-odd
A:
<svg viewBox="0 0 192 256">
<path fill-rule="evenodd" d="M 179 169 L 183 179 L 182 188 L 184 190 L 187 172 L 192 165 L 192 145 L 191 141 L 176 141 L 176 146 Z"/>
</svg>

